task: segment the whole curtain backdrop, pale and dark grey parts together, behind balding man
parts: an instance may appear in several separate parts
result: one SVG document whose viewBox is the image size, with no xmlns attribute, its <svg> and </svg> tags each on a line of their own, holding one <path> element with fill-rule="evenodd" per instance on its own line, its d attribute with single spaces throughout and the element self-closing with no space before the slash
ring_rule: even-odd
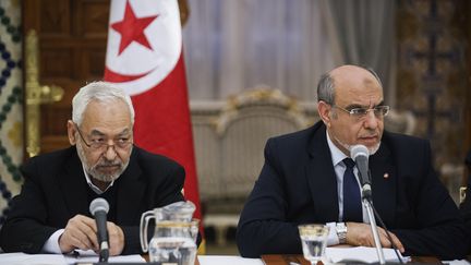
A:
<svg viewBox="0 0 471 265">
<path fill-rule="evenodd" d="M 192 100 L 259 85 L 316 100 L 323 73 L 361 63 L 378 72 L 394 103 L 395 1 L 189 0 L 189 7 L 183 45 Z"/>
</svg>

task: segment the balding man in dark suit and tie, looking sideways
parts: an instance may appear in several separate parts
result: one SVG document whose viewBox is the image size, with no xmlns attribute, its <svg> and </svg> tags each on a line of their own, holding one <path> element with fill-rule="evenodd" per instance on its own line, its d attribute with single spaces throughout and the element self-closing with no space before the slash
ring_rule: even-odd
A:
<svg viewBox="0 0 471 265">
<path fill-rule="evenodd" d="M 265 165 L 237 230 L 240 253 L 302 253 L 298 225 L 312 222 L 330 227 L 329 245 L 374 246 L 358 169 L 349 161 L 350 147 L 362 144 L 371 154 L 374 206 L 399 251 L 462 257 L 463 221 L 433 170 L 428 142 L 383 133 L 389 107 L 377 75 L 337 68 L 322 76 L 317 96 L 321 122 L 266 144 Z M 383 228 L 379 239 L 391 246 Z"/>
</svg>

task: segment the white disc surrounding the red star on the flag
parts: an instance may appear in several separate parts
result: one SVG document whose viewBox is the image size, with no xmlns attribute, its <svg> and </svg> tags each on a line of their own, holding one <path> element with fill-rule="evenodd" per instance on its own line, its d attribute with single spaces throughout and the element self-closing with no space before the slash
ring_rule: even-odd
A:
<svg viewBox="0 0 471 265">
<path fill-rule="evenodd" d="M 160 83 L 176 67 L 182 50 L 180 11 L 177 0 L 129 0 L 135 17 L 157 16 L 144 29 L 152 49 L 132 41 L 119 55 L 121 35 L 109 26 L 107 71 L 124 82 L 114 83 L 129 95 L 144 93 Z M 126 0 L 113 0 L 109 25 L 124 19 Z"/>
</svg>

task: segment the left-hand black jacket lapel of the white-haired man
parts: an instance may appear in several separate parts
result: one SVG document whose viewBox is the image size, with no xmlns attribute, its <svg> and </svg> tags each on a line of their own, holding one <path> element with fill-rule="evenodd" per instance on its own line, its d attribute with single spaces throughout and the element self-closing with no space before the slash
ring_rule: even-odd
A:
<svg viewBox="0 0 471 265">
<path fill-rule="evenodd" d="M 70 158 L 64 164 L 63 174 L 59 176 L 62 196 L 69 210 L 69 217 L 76 214 L 89 216 L 87 184 L 75 147 L 71 147 Z"/>
</svg>

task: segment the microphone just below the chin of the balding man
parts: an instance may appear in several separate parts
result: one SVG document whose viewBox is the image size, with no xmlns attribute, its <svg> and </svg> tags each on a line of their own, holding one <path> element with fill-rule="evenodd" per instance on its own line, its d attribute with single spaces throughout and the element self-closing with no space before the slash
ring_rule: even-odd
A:
<svg viewBox="0 0 471 265">
<path fill-rule="evenodd" d="M 360 184 L 362 186 L 362 197 L 371 200 L 371 172 L 369 167 L 370 152 L 366 146 L 358 144 L 350 148 L 350 157 L 355 161 L 359 170 Z"/>
</svg>

